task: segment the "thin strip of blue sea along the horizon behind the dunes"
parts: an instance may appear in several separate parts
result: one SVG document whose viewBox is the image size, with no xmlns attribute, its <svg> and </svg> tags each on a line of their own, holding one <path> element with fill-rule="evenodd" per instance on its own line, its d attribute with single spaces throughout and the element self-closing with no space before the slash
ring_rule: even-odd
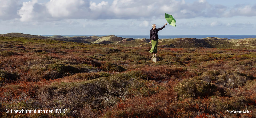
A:
<svg viewBox="0 0 256 118">
<path fill-rule="evenodd" d="M 51 37 L 53 35 L 43 35 L 46 37 Z M 93 35 L 62 35 L 64 37 L 81 37 L 81 36 L 93 36 Z M 106 35 L 96 35 L 99 37 L 106 36 Z M 115 35 L 117 37 L 123 37 L 123 38 L 134 38 L 134 39 L 141 39 L 146 38 L 149 39 L 149 35 Z M 197 38 L 202 39 L 206 37 L 218 37 L 218 38 L 228 38 L 228 39 L 244 39 L 244 38 L 256 38 L 256 35 L 158 35 L 159 39 L 173 39 L 173 38 Z"/>
</svg>

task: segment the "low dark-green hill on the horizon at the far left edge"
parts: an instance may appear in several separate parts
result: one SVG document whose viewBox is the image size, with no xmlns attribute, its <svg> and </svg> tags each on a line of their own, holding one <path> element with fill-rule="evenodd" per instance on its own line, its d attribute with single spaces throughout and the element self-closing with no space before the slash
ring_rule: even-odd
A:
<svg viewBox="0 0 256 118">
<path fill-rule="evenodd" d="M 0 36 L 25 37 L 25 38 L 35 38 L 35 39 L 55 39 L 52 37 L 44 37 L 40 35 L 31 35 L 31 34 L 23 34 L 23 33 L 8 33 L 8 34 L 1 34 Z"/>
</svg>

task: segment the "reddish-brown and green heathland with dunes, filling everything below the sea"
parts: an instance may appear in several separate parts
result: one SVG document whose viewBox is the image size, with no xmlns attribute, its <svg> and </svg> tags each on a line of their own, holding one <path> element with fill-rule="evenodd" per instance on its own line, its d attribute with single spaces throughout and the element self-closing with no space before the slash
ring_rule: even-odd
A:
<svg viewBox="0 0 256 118">
<path fill-rule="evenodd" d="M 0 117 L 256 117 L 255 40 L 3 34 Z"/>
</svg>

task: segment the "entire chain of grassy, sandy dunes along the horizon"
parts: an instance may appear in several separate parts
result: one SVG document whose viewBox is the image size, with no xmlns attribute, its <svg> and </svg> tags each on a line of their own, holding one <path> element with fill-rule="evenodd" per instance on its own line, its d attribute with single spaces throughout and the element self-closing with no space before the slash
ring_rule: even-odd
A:
<svg viewBox="0 0 256 118">
<path fill-rule="evenodd" d="M 82 37 L 63 37 L 55 35 L 52 37 L 44 37 L 40 35 L 30 35 L 23 33 L 8 33 L 1 34 L 0 36 L 9 37 L 25 37 L 25 38 L 36 38 L 36 39 L 54 39 L 68 42 L 77 43 L 97 43 L 97 44 L 115 44 L 122 46 L 131 47 L 151 47 L 149 39 L 133 39 L 133 38 L 122 38 L 115 35 L 108 35 L 103 37 L 98 36 L 82 36 Z M 206 37 L 203 39 L 196 38 L 174 38 L 174 39 L 159 39 L 158 47 L 166 48 L 256 48 L 256 38 L 245 38 L 245 39 L 227 39 L 218 37 Z"/>
</svg>

